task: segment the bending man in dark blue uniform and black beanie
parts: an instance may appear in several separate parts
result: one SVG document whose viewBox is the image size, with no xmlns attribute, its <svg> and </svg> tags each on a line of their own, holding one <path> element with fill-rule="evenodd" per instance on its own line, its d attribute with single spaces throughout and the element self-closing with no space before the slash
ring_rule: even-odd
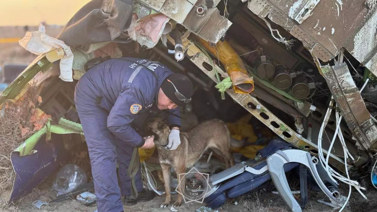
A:
<svg viewBox="0 0 377 212">
<path fill-rule="evenodd" d="M 131 205 L 155 197 L 155 193 L 143 189 L 140 168 L 135 177 L 138 197 L 131 196 L 127 170 L 133 149 L 155 145 L 153 137 L 144 139 L 136 128 L 143 127 L 152 108 L 169 111 L 167 121 L 172 130 L 167 148 L 176 149 L 181 143 L 178 106 L 188 103 L 193 94 L 187 76 L 175 74 L 159 62 L 124 59 L 110 59 L 90 68 L 75 88 L 75 105 L 89 149 L 98 212 L 122 212 L 123 203 Z"/>
</svg>

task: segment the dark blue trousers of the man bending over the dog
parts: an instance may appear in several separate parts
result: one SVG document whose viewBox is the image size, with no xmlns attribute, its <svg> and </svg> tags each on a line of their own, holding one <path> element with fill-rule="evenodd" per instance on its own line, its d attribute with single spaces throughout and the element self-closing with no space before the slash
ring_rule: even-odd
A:
<svg viewBox="0 0 377 212">
<path fill-rule="evenodd" d="M 107 129 L 108 112 L 100 108 L 94 98 L 76 92 L 75 105 L 89 149 L 98 212 L 121 212 L 121 195 L 131 195 L 131 179 L 127 170 L 133 147 L 116 139 Z M 116 174 L 117 163 L 121 189 Z M 143 189 L 140 168 L 135 184 L 140 192 Z"/>
</svg>

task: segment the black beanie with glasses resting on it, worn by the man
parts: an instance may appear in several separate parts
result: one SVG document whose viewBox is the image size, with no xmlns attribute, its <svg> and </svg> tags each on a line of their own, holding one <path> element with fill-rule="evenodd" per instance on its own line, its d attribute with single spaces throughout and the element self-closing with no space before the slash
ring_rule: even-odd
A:
<svg viewBox="0 0 377 212">
<path fill-rule="evenodd" d="M 191 80 L 189 79 L 189 77 L 183 74 L 170 74 L 164 79 L 164 81 L 161 84 L 161 89 L 167 96 L 167 98 L 172 100 L 173 103 L 175 103 L 176 105 L 183 106 L 184 101 L 179 100 L 175 96 L 175 88 L 173 84 L 167 80 L 170 80 L 174 84 L 175 88 L 177 88 L 179 93 L 181 93 L 188 99 L 191 98 L 193 93 L 193 86 Z"/>
</svg>

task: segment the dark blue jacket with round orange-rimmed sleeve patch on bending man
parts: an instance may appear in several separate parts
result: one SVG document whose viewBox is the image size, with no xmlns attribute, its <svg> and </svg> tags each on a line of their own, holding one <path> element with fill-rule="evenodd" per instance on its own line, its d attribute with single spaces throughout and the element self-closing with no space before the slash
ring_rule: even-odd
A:
<svg viewBox="0 0 377 212">
<path fill-rule="evenodd" d="M 87 71 L 77 84 L 77 95 L 96 99 L 109 112 L 107 128 L 116 138 L 130 146 L 141 147 L 144 139 L 130 124 L 140 111 L 156 104 L 158 90 L 164 78 L 173 72 L 162 63 L 139 58 L 110 59 Z M 153 74 L 144 66 L 156 74 Z M 81 86 L 84 85 L 84 86 Z M 169 110 L 179 116 L 179 108 Z M 167 115 L 170 125 L 181 125 L 174 115 Z"/>
</svg>

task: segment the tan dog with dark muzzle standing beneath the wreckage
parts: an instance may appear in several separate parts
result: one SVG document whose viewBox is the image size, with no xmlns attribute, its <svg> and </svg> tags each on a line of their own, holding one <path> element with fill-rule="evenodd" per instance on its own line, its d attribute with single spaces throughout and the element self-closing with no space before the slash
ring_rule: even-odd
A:
<svg viewBox="0 0 377 212">
<path fill-rule="evenodd" d="M 184 174 L 188 168 L 193 167 L 208 148 L 224 157 L 227 168 L 234 166 L 234 160 L 230 153 L 230 133 L 225 123 L 221 120 L 204 121 L 188 132 L 180 132 L 181 144 L 179 144 L 177 149 L 171 151 L 163 148 L 163 146 L 168 144 L 169 126 L 161 118 L 153 119 L 146 126 L 156 134 L 155 144 L 166 191 L 165 202 L 161 204 L 161 208 L 169 206 L 171 201 L 170 167 L 174 168 L 178 177 L 179 174 Z M 178 179 L 178 183 L 180 180 Z M 180 193 L 182 193 L 181 187 L 185 187 L 184 183 L 182 181 L 180 185 L 183 185 L 178 187 Z M 178 198 L 173 206 L 180 206 L 182 198 L 182 195 L 178 194 Z"/>
</svg>

